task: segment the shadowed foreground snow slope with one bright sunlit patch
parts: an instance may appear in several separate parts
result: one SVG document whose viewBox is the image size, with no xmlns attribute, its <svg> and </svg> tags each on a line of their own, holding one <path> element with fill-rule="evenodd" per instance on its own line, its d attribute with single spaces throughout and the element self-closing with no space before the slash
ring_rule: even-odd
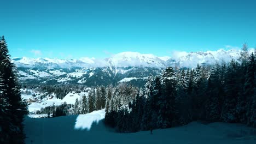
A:
<svg viewBox="0 0 256 144">
<path fill-rule="evenodd" d="M 256 143 L 242 124 L 192 122 L 183 127 L 120 134 L 104 126 L 104 110 L 86 115 L 25 119 L 26 143 Z"/>
</svg>

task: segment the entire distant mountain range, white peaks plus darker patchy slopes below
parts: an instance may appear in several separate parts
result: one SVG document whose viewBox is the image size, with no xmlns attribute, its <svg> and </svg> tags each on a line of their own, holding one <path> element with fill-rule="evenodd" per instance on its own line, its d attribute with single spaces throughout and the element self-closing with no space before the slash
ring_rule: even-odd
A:
<svg viewBox="0 0 256 144">
<path fill-rule="evenodd" d="M 249 50 L 252 52 L 253 50 Z M 238 59 L 240 50 L 173 52 L 172 57 L 157 57 L 138 52 L 121 52 L 109 58 L 50 59 L 14 58 L 21 82 L 79 83 L 88 86 L 118 82 L 143 83 L 149 75 L 160 74 L 167 66 L 196 67 Z"/>
</svg>

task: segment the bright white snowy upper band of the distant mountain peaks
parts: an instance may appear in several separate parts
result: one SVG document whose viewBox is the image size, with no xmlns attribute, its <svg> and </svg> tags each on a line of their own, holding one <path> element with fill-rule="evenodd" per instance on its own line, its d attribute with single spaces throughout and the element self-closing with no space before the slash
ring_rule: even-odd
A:
<svg viewBox="0 0 256 144">
<path fill-rule="evenodd" d="M 249 53 L 254 49 L 248 49 Z M 230 49 L 205 52 L 185 52 L 173 51 L 171 57 L 157 57 L 152 54 L 142 54 L 139 52 L 121 52 L 111 55 L 108 58 L 88 58 L 80 59 L 50 59 L 50 58 L 14 58 L 13 62 L 17 67 L 46 67 L 46 68 L 97 68 L 97 67 L 152 67 L 165 68 L 178 63 L 183 67 L 196 67 L 197 63 L 214 64 L 224 60 L 230 61 L 231 58 L 238 59 L 241 50 Z"/>
</svg>

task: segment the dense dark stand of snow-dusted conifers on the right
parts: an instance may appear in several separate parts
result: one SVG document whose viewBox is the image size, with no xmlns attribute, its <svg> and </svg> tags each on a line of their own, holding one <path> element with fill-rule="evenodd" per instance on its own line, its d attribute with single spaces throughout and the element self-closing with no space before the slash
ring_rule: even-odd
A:
<svg viewBox="0 0 256 144">
<path fill-rule="evenodd" d="M 255 52 L 243 45 L 239 61 L 149 76 L 134 99 L 110 97 L 105 122 L 122 133 L 170 128 L 192 121 L 245 123 L 256 127 Z M 129 98 L 127 98 L 129 97 Z M 117 106 L 118 105 L 118 106 Z"/>
</svg>

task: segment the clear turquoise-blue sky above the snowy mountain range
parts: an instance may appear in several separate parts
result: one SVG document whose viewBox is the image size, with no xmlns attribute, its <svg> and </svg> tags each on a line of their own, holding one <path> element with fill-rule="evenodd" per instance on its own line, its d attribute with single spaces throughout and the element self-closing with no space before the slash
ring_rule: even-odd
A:
<svg viewBox="0 0 256 144">
<path fill-rule="evenodd" d="M 12 57 L 170 56 L 256 46 L 256 1 L 1 1 L 0 35 Z"/>
</svg>

